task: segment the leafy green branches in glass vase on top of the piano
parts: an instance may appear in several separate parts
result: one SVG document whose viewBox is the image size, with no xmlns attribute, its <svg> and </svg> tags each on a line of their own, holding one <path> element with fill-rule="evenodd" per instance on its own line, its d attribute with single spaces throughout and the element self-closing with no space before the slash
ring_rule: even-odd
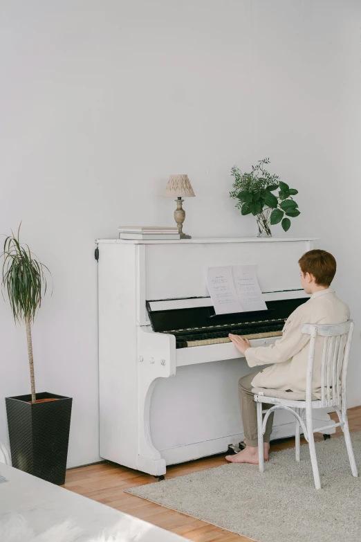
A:
<svg viewBox="0 0 361 542">
<path fill-rule="evenodd" d="M 262 231 L 271 235 L 269 223 L 274 225 L 281 222 L 284 231 L 288 231 L 291 225 L 288 217 L 298 217 L 300 214 L 293 199 L 298 190 L 279 181 L 278 175 L 270 174 L 265 168 L 269 163 L 269 158 L 260 160 L 257 165 L 252 165 L 250 173 L 242 173 L 236 166 L 231 170 L 235 190 L 230 192 L 230 197 L 238 200 L 236 207 L 241 209 L 242 215 L 252 213 L 257 216 L 259 235 Z M 272 194 L 277 189 L 278 195 Z"/>
</svg>

